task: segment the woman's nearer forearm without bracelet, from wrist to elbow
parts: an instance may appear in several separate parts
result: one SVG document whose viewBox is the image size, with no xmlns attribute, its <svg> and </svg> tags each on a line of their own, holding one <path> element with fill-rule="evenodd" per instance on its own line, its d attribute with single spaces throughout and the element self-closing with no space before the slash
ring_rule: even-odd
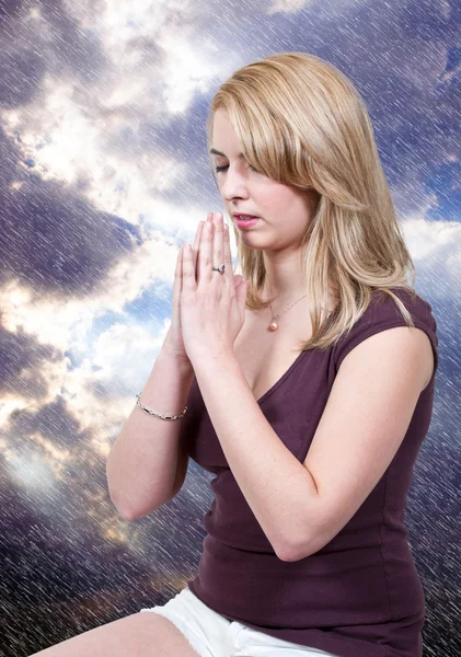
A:
<svg viewBox="0 0 461 657">
<path fill-rule="evenodd" d="M 205 357 L 194 368 L 243 496 L 279 558 L 293 561 L 318 507 L 311 475 L 270 427 L 233 354 Z"/>
</svg>

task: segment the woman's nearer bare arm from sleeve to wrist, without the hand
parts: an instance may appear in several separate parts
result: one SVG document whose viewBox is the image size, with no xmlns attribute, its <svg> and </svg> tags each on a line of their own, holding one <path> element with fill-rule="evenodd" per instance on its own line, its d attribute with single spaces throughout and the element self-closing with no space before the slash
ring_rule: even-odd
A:
<svg viewBox="0 0 461 657">
<path fill-rule="evenodd" d="M 320 550 L 371 493 L 406 434 L 428 359 L 430 343 L 418 328 L 399 326 L 356 346 L 339 367 L 304 463 L 265 418 L 232 353 L 195 364 L 232 474 L 281 561 Z"/>
</svg>

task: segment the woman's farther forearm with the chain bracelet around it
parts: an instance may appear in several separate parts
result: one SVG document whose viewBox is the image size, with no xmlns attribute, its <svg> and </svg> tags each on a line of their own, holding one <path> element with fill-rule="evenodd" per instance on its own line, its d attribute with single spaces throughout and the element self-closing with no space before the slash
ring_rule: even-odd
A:
<svg viewBox="0 0 461 657">
<path fill-rule="evenodd" d="M 160 351 L 142 389 L 141 404 L 163 415 L 178 415 L 193 380 L 192 366 Z M 145 516 L 169 499 L 176 476 L 182 422 L 152 416 L 135 400 L 106 464 L 111 499 L 124 517 Z"/>
</svg>

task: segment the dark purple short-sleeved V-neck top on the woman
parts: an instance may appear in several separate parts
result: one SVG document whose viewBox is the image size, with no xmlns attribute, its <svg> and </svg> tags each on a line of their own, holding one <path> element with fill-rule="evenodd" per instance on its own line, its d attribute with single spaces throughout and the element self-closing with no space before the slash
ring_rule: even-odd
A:
<svg viewBox="0 0 461 657">
<path fill-rule="evenodd" d="M 419 447 L 428 431 L 438 367 L 431 307 L 392 288 L 430 338 L 435 370 L 405 437 L 381 480 L 347 525 L 321 550 L 283 562 L 247 505 L 222 452 L 197 380 L 180 434 L 189 457 L 216 474 L 216 498 L 191 591 L 230 621 L 338 657 L 420 657 L 424 590 L 407 541 L 404 509 Z M 377 303 L 380 299 L 381 302 Z M 376 290 L 348 335 L 326 351 L 301 351 L 257 403 L 302 463 L 343 358 L 374 333 L 405 326 L 392 299 Z"/>
</svg>

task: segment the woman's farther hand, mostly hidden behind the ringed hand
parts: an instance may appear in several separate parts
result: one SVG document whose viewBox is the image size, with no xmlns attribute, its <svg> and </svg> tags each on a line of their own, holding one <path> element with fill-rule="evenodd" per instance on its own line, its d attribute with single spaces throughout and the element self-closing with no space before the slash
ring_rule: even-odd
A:
<svg viewBox="0 0 461 657">
<path fill-rule="evenodd" d="M 212 212 L 208 212 L 207 222 L 212 222 Z M 200 221 L 197 227 L 197 231 L 195 233 L 194 245 L 193 245 L 193 261 L 194 261 L 194 272 L 197 273 L 197 255 L 200 244 L 200 239 L 203 234 L 203 229 L 205 227 L 205 222 Z M 180 249 L 176 258 L 176 268 L 174 272 L 174 285 L 173 285 L 173 301 L 172 301 L 172 319 L 170 328 L 166 333 L 165 339 L 163 342 L 162 350 L 168 353 L 173 358 L 177 358 L 178 360 L 184 360 L 191 364 L 191 360 L 187 356 L 187 353 L 184 347 L 184 339 L 182 334 L 181 326 L 181 280 L 182 280 L 182 250 Z M 220 276 L 220 275 L 219 275 Z M 233 285 L 237 288 L 242 281 L 242 276 L 240 274 L 233 275 Z M 192 365 L 192 364 L 191 364 Z"/>
</svg>

